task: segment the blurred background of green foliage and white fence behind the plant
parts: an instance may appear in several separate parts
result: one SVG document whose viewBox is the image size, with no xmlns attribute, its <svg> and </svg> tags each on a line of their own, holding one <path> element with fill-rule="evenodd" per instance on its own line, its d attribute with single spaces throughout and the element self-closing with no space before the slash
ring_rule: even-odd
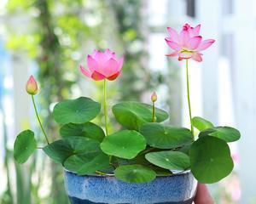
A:
<svg viewBox="0 0 256 204">
<path fill-rule="evenodd" d="M 231 145 L 234 172 L 209 185 L 212 196 L 221 204 L 256 203 L 255 16 L 255 0 L 0 0 L 0 203 L 68 203 L 61 167 L 39 150 L 17 165 L 13 144 L 29 127 L 44 145 L 25 91 L 31 74 L 40 84 L 36 99 L 51 139 L 59 138 L 51 117 L 56 102 L 80 95 L 102 100 L 102 82 L 79 73 L 94 48 L 125 55 L 122 75 L 108 83 L 109 105 L 149 103 L 156 90 L 169 122 L 189 127 L 184 65 L 166 58 L 164 40 L 166 26 L 180 30 L 187 22 L 201 23 L 201 35 L 216 39 L 202 63 L 189 63 L 192 114 L 242 135 Z"/>
</svg>

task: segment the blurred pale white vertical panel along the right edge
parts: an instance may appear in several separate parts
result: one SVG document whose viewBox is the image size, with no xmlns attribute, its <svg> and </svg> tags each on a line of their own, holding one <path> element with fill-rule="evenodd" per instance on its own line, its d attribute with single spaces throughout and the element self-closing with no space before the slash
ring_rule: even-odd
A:
<svg viewBox="0 0 256 204">
<path fill-rule="evenodd" d="M 236 122 L 241 130 L 241 203 L 256 203 L 256 65 L 255 11 L 253 0 L 236 0 L 233 26 L 236 64 Z"/>
</svg>

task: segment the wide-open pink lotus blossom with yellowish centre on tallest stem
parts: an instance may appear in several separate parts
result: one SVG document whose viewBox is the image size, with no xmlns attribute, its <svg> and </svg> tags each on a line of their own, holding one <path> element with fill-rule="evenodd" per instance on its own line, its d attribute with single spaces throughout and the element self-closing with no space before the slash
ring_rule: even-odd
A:
<svg viewBox="0 0 256 204">
<path fill-rule="evenodd" d="M 183 30 L 178 34 L 171 27 L 167 27 L 170 37 L 166 37 L 166 42 L 174 52 L 166 54 L 166 56 L 178 56 L 178 60 L 191 58 L 201 62 L 201 51 L 209 48 L 215 40 L 208 39 L 202 41 L 202 37 L 199 34 L 200 28 L 201 25 L 191 27 L 189 24 L 185 24 Z"/>
</svg>

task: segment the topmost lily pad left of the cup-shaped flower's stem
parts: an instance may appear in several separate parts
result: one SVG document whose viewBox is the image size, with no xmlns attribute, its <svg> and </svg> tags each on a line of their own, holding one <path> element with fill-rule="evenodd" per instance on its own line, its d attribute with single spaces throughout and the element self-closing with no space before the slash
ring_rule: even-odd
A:
<svg viewBox="0 0 256 204">
<path fill-rule="evenodd" d="M 90 122 L 101 111 L 101 105 L 96 101 L 80 97 L 79 99 L 63 100 L 55 105 L 53 116 L 61 124 Z"/>
</svg>

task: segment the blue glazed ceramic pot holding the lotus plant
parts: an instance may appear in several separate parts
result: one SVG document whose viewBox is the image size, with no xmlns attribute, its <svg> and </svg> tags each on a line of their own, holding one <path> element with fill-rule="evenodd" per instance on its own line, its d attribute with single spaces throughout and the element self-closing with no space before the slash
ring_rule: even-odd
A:
<svg viewBox="0 0 256 204">
<path fill-rule="evenodd" d="M 144 184 L 128 184 L 108 176 L 78 176 L 65 171 L 67 195 L 73 204 L 191 204 L 197 182 L 186 171 L 172 176 L 160 176 Z"/>
</svg>

